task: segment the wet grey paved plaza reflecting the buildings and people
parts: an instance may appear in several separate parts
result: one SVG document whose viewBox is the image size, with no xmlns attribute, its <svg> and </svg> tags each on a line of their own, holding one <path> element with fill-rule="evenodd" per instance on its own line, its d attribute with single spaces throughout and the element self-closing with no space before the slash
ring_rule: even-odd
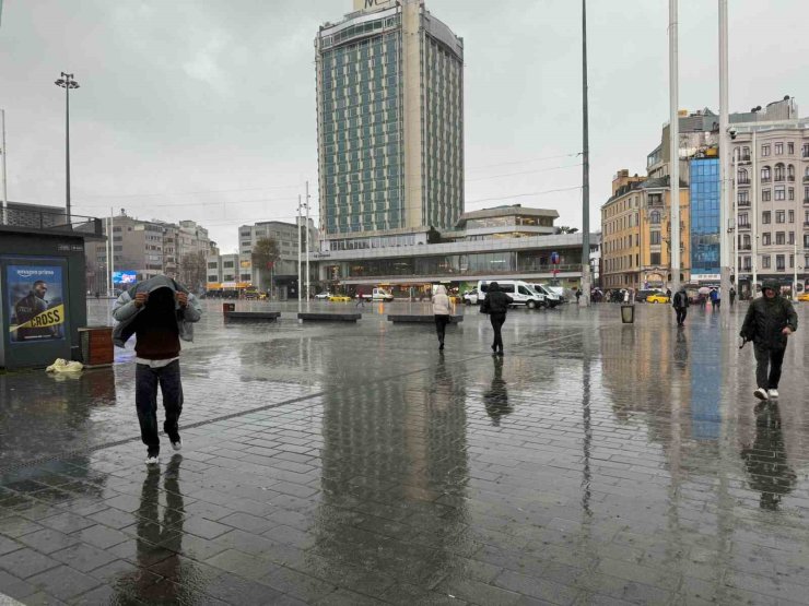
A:
<svg viewBox="0 0 809 606">
<path fill-rule="evenodd" d="M 809 603 L 809 305 L 757 405 L 746 306 L 227 324 L 148 470 L 131 344 L 0 375 L 0 594 L 24 604 Z M 244 304 L 247 309 L 250 305 Z M 92 301 L 105 323 L 109 301 Z M 313 310 L 353 305 L 313 305 Z M 162 412 L 160 415 L 162 417 Z M 0 596 L 2 603 L 2 596 Z"/>
</svg>

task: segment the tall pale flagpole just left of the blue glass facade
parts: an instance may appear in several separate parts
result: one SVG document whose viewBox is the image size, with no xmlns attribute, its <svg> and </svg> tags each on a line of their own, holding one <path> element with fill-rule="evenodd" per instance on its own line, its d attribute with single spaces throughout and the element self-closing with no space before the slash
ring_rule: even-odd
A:
<svg viewBox="0 0 809 606">
<path fill-rule="evenodd" d="M 680 290 L 680 84 L 677 33 L 677 3 L 669 0 L 669 191 L 671 194 L 671 228 L 669 230 L 669 266 L 671 292 Z"/>
</svg>

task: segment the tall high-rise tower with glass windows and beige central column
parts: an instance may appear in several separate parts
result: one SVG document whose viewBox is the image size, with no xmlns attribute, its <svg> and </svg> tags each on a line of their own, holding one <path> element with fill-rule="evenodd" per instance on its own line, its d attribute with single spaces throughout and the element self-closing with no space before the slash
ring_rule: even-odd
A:
<svg viewBox="0 0 809 606">
<path fill-rule="evenodd" d="M 464 212 L 464 40 L 421 0 L 354 9 L 315 39 L 321 238 L 415 243 Z"/>
</svg>

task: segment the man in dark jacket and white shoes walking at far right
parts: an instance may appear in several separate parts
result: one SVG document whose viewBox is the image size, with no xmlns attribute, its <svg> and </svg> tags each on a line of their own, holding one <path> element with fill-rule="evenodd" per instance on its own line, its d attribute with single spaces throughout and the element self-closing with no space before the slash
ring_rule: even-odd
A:
<svg viewBox="0 0 809 606">
<path fill-rule="evenodd" d="M 759 400 L 778 397 L 787 337 L 798 330 L 798 314 L 793 304 L 782 297 L 778 290 L 776 283 L 765 282 L 762 286 L 763 296 L 750 304 L 741 326 L 741 337 L 752 341 L 755 348 L 758 389 L 754 395 Z"/>
</svg>

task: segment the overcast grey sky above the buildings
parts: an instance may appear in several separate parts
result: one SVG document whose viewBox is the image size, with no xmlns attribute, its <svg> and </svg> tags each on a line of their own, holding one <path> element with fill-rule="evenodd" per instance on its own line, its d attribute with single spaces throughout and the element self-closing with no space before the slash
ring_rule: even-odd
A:
<svg viewBox="0 0 809 606">
<path fill-rule="evenodd" d="M 730 109 L 809 107 L 807 0 L 731 0 Z M 351 0 L 4 0 L 9 198 L 65 202 L 72 72 L 74 213 L 236 228 L 317 209 L 313 39 Z M 427 0 L 466 45 L 467 210 L 516 203 L 581 225 L 581 2 Z M 667 0 L 589 0 L 591 226 L 619 168 L 642 173 L 668 119 Z M 680 0 L 680 107 L 718 109 L 717 2 Z M 556 157 L 554 157 L 556 156 Z M 518 194 L 535 193 L 534 195 Z"/>
</svg>

